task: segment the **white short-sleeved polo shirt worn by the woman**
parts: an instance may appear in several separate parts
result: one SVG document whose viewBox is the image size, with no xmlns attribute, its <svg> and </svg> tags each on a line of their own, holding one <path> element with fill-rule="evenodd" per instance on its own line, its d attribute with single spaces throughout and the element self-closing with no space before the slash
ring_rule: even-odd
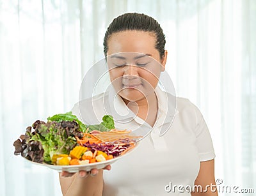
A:
<svg viewBox="0 0 256 196">
<path fill-rule="evenodd" d="M 110 171 L 104 171 L 104 196 L 191 195 L 188 190 L 193 188 L 200 162 L 215 157 L 211 135 L 197 107 L 185 98 L 176 98 L 176 107 L 170 109 L 166 93 L 156 87 L 156 94 L 159 113 L 152 132 L 134 151 L 113 163 Z M 112 98 L 111 93 L 100 94 L 89 102 L 77 103 L 72 112 L 86 124 L 99 124 L 102 116 L 111 113 L 122 122 L 115 123 L 118 128 L 144 135 L 152 129 L 140 117 L 132 118 L 122 98 Z M 172 126 L 160 137 L 159 132 L 168 123 Z"/>
</svg>

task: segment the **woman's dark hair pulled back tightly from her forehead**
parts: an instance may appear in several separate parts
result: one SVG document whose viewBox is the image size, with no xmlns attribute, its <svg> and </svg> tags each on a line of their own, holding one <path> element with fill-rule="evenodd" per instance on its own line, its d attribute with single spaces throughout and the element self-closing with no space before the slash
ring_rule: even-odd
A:
<svg viewBox="0 0 256 196">
<path fill-rule="evenodd" d="M 165 36 L 163 33 L 163 29 L 155 19 L 143 13 L 125 13 L 118 16 L 111 22 L 111 24 L 109 24 L 103 41 L 105 56 L 107 56 L 108 39 L 111 34 L 127 30 L 137 30 L 154 33 L 156 36 L 155 47 L 159 51 L 160 57 L 164 56 Z"/>
</svg>

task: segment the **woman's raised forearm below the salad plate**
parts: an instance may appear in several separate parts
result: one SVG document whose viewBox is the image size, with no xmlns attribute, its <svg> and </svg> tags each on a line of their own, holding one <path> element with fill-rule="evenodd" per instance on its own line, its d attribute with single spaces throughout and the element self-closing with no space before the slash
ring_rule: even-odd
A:
<svg viewBox="0 0 256 196">
<path fill-rule="evenodd" d="M 103 170 L 99 170 L 97 176 L 79 177 L 75 174 L 72 177 L 61 177 L 60 185 L 64 196 L 70 195 L 102 195 L 103 189 Z"/>
</svg>

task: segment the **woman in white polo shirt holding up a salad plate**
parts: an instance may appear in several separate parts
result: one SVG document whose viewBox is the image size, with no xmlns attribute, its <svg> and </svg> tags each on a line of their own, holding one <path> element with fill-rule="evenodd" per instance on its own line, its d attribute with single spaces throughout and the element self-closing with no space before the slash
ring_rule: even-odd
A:
<svg viewBox="0 0 256 196">
<path fill-rule="evenodd" d="M 172 126 L 159 137 L 163 128 L 159 119 L 170 107 L 157 87 L 167 59 L 164 45 L 161 27 L 147 15 L 125 13 L 109 25 L 104 54 L 111 82 L 120 98 L 118 102 L 123 104 L 120 107 L 136 114 L 131 126 L 140 124 L 153 130 L 134 152 L 114 163 L 109 172 L 96 169 L 79 174 L 61 172 L 63 195 L 218 195 L 210 189 L 214 190 L 215 185 L 211 136 L 195 105 L 176 98 L 173 122 L 172 117 L 167 119 Z M 156 63 L 152 66 L 150 59 L 159 66 Z M 73 109 L 76 115 L 78 108 L 75 105 Z M 145 123 L 140 123 L 141 120 Z M 108 165 L 105 169 L 110 168 Z M 190 193 L 189 187 L 193 188 L 194 183 L 204 191 L 198 188 L 199 191 Z"/>
</svg>

